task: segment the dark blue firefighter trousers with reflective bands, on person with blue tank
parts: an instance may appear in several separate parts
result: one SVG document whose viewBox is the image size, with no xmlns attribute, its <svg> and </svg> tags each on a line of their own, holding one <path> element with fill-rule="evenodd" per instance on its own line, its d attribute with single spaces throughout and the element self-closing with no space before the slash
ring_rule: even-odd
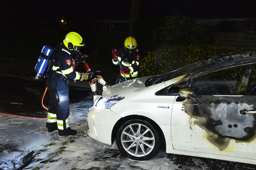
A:
<svg viewBox="0 0 256 170">
<path fill-rule="evenodd" d="M 58 131 L 65 131 L 69 115 L 69 84 L 68 80 L 61 80 L 50 76 L 46 79 L 46 86 L 50 95 L 46 127 L 58 127 Z"/>
</svg>

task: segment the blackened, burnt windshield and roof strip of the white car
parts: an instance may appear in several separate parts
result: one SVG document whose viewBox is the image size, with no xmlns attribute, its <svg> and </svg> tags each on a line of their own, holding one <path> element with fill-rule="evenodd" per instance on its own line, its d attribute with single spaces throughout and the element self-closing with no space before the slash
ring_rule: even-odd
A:
<svg viewBox="0 0 256 170">
<path fill-rule="evenodd" d="M 170 80 L 172 78 L 177 77 L 180 74 L 187 74 L 190 72 L 196 71 L 197 75 L 203 74 L 206 70 L 211 69 L 220 70 L 222 68 L 246 65 L 246 64 L 255 64 L 256 63 L 256 51 L 248 51 L 243 53 L 227 53 L 223 55 L 215 55 L 212 58 L 200 61 L 198 63 L 190 64 L 188 66 L 179 68 L 177 70 L 173 70 L 170 72 L 166 72 L 164 74 L 160 74 L 157 76 L 153 76 L 146 80 L 145 85 L 151 86 L 154 84 L 158 84 L 163 81 Z M 204 67 L 201 68 L 200 67 Z"/>
</svg>

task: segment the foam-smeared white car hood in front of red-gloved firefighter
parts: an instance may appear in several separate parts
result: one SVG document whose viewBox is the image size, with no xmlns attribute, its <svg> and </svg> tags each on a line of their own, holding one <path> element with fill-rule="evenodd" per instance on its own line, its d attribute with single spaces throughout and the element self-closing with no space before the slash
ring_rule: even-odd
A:
<svg viewBox="0 0 256 170">
<path fill-rule="evenodd" d="M 145 82 L 152 76 L 145 76 L 141 78 L 135 78 L 132 80 L 127 80 L 111 86 L 111 88 L 104 89 L 102 92 L 102 97 L 106 98 L 108 96 L 120 95 L 138 90 L 140 88 L 145 88 Z"/>
</svg>

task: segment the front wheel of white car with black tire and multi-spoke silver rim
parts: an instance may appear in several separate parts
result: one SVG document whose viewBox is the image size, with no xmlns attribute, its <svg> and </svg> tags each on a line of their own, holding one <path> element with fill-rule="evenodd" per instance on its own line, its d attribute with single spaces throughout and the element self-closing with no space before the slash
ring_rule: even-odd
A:
<svg viewBox="0 0 256 170">
<path fill-rule="evenodd" d="M 148 121 L 132 119 L 119 128 L 116 143 L 124 156 L 133 160 L 149 160 L 161 149 L 160 134 Z"/>
</svg>

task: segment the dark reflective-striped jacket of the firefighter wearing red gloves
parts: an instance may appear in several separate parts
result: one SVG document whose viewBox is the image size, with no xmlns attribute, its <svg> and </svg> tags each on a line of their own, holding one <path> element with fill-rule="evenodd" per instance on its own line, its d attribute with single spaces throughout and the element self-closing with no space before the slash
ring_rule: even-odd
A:
<svg viewBox="0 0 256 170">
<path fill-rule="evenodd" d="M 130 74 L 120 73 L 120 75 L 116 80 L 116 83 L 125 81 L 124 76 L 126 77 L 127 80 L 131 80 L 138 76 L 138 69 L 140 64 L 140 54 L 138 49 L 134 50 L 133 53 L 129 53 L 124 48 L 121 48 L 118 50 L 117 59 L 121 64 L 122 68 L 128 68 L 130 70 Z M 119 65 L 118 61 L 115 61 L 114 59 L 112 59 L 112 63 L 114 65 Z"/>
</svg>

